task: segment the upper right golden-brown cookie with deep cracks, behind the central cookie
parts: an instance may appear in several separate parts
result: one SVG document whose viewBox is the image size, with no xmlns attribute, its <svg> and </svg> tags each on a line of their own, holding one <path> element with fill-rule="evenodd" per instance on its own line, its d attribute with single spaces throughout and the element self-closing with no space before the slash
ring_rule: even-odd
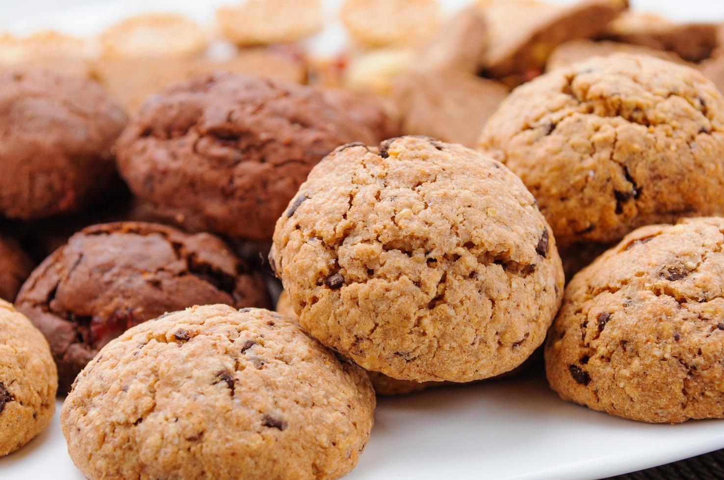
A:
<svg viewBox="0 0 724 480">
<path fill-rule="evenodd" d="M 724 98 L 688 67 L 617 53 L 511 93 L 479 148 L 521 177 L 561 245 L 724 212 Z"/>
</svg>

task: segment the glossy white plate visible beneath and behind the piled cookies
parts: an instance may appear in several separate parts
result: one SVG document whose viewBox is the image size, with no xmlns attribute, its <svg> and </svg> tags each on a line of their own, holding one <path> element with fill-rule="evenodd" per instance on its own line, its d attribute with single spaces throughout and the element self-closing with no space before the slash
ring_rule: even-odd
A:
<svg viewBox="0 0 724 480">
<path fill-rule="evenodd" d="M 59 28 L 78 35 L 144 10 L 175 10 L 202 21 L 213 5 L 238 0 L 0 0 L 0 28 Z M 556 1 L 556 0 L 553 0 Z M 571 3 L 573 0 L 557 0 Z M 338 0 L 324 0 L 330 17 Z M 444 1 L 453 9 L 466 0 Z M 724 1 L 634 0 L 675 20 L 724 19 Z M 311 41 L 332 52 L 340 25 Z M 1 479 L 83 479 L 67 455 L 59 410 L 20 452 L 0 458 Z M 565 403 L 542 372 L 381 398 L 375 427 L 349 479 L 599 479 L 724 448 L 724 421 L 649 425 Z"/>
</svg>

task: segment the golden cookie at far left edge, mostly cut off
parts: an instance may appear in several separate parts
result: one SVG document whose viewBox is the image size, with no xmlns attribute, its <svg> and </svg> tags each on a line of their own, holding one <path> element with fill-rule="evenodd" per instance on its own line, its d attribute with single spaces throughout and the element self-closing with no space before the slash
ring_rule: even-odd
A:
<svg viewBox="0 0 724 480">
<path fill-rule="evenodd" d="M 57 387 L 48 342 L 25 315 L 0 299 L 0 456 L 48 427 Z"/>
</svg>

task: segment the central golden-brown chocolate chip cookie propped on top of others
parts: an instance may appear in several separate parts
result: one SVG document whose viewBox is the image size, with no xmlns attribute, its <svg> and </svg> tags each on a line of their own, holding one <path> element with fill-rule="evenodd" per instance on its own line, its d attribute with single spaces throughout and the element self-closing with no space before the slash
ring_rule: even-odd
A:
<svg viewBox="0 0 724 480">
<path fill-rule="evenodd" d="M 521 181 L 427 137 L 328 155 L 279 218 L 269 260 L 305 330 L 404 380 L 517 367 L 563 296 L 555 239 Z"/>
</svg>

